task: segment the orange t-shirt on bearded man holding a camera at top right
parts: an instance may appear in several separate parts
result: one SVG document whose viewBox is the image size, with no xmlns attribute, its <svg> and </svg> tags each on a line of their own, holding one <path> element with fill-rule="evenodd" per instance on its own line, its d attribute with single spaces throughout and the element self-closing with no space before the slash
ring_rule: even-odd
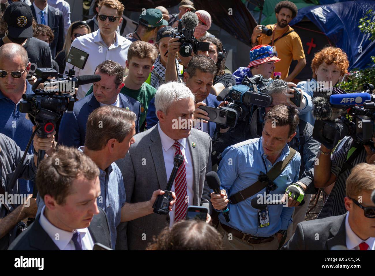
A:
<svg viewBox="0 0 375 276">
<path fill-rule="evenodd" d="M 268 29 L 275 28 L 275 24 L 267 25 Z M 285 32 L 288 33 L 293 28 L 288 26 L 289 29 Z M 282 36 L 284 31 L 276 29 L 274 41 Z M 272 35 L 266 36 L 262 34 L 258 38 L 258 44 L 270 44 Z M 283 38 L 278 39 L 275 43 L 276 51 L 278 52 L 278 58 L 281 59 L 279 62 L 275 63 L 275 72 L 281 72 L 281 78 L 286 78 L 289 75 L 290 63 L 293 60 L 299 60 L 305 58 L 305 52 L 303 51 L 302 42 L 300 36 L 296 32 L 291 32 Z"/>
</svg>

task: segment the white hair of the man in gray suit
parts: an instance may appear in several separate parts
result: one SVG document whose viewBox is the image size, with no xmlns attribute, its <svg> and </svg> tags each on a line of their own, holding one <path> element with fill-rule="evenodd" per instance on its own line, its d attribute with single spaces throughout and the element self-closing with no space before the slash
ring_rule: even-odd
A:
<svg viewBox="0 0 375 276">
<path fill-rule="evenodd" d="M 194 94 L 185 84 L 177 81 L 162 84 L 155 94 L 155 112 L 160 110 L 166 114 L 166 111 L 173 103 L 189 98 L 192 99 L 193 102 L 195 101 Z"/>
</svg>

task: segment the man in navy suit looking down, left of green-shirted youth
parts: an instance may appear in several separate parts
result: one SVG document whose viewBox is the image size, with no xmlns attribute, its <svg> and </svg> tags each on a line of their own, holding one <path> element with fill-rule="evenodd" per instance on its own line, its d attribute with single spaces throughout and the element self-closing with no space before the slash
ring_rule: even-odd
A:
<svg viewBox="0 0 375 276">
<path fill-rule="evenodd" d="M 95 69 L 102 79 L 93 84 L 93 93 L 74 104 L 72 113 L 64 113 L 58 131 L 58 143 L 78 148 L 83 146 L 86 138 L 86 122 L 90 113 L 100 106 L 113 105 L 130 110 L 136 115 L 135 130 L 139 132 L 141 104 L 120 93 L 124 87 L 124 68 L 120 63 L 106 60 Z"/>
</svg>

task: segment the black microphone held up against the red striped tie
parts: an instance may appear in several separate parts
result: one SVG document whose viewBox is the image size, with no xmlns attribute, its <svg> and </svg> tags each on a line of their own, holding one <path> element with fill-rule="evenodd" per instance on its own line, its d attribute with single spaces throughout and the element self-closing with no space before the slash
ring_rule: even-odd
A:
<svg viewBox="0 0 375 276">
<path fill-rule="evenodd" d="M 173 161 L 173 169 L 171 175 L 169 176 L 168 184 L 164 190 L 164 195 L 158 195 L 157 199 L 152 206 L 154 208 L 154 213 L 159 215 L 166 215 L 169 213 L 169 204 L 173 200 L 171 189 L 176 178 L 177 170 L 184 161 L 184 157 L 181 154 L 176 154 Z"/>
</svg>

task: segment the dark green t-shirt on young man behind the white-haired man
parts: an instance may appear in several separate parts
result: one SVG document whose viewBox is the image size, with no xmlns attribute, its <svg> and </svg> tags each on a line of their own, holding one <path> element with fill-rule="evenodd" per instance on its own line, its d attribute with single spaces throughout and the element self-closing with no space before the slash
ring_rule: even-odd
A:
<svg viewBox="0 0 375 276">
<path fill-rule="evenodd" d="M 87 92 L 87 95 L 90 95 L 93 92 L 93 87 L 89 89 Z M 121 91 L 122 94 L 125 94 L 128 97 L 131 97 L 141 104 L 141 114 L 139 118 L 139 131 L 143 131 L 145 129 L 144 122 L 146 121 L 146 115 L 147 115 L 147 109 L 148 104 L 152 100 L 152 98 L 155 96 L 156 89 L 152 87 L 148 83 L 143 83 L 141 88 L 138 90 L 129 89 L 127 87 L 122 87 Z"/>
</svg>

